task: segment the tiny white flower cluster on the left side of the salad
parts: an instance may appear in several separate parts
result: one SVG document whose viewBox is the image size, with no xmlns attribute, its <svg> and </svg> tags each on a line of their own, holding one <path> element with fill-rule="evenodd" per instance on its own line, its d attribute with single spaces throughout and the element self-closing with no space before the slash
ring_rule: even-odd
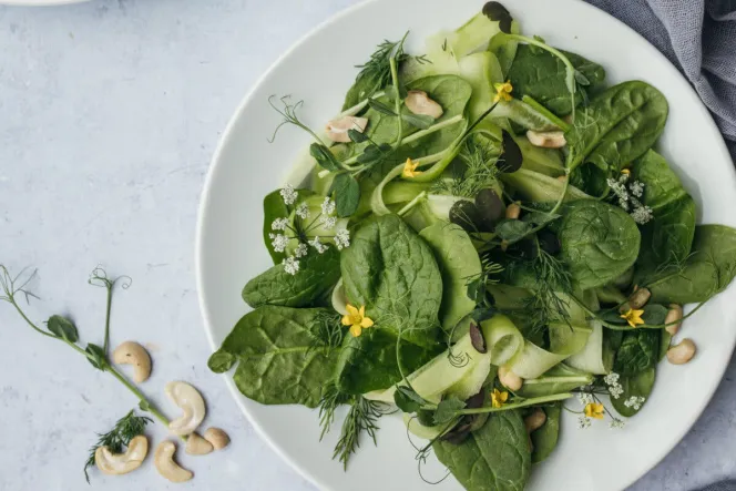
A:
<svg viewBox="0 0 736 491">
<path fill-rule="evenodd" d="M 287 184 L 279 193 L 287 206 L 296 203 L 298 193 L 292 185 Z M 321 214 L 317 217 L 320 218 L 319 223 L 323 228 L 333 229 L 337 226 L 337 217 L 333 216 L 334 213 L 335 202 L 329 197 L 325 197 L 325 201 L 321 204 Z M 309 206 L 306 203 L 300 203 L 296 207 L 296 216 L 303 221 L 309 218 Z M 284 270 L 289 275 L 296 275 L 299 272 L 299 259 L 309 253 L 309 246 L 317 250 L 318 254 L 324 254 L 328 248 L 328 246 L 320 241 L 318 235 L 315 235 L 311 241 L 308 241 L 309 233 L 314 229 L 313 225 L 314 223 L 307 225 L 306 228 L 300 226 L 292 227 L 288 218 L 276 218 L 270 224 L 272 229 L 282 232 L 280 234 L 268 234 L 272 246 L 277 253 L 285 252 L 290 241 L 298 242 L 294 249 L 294 254 L 287 256 L 283 262 Z M 297 233 L 297 231 L 300 231 L 300 233 Z M 334 238 L 335 246 L 338 250 L 350 246 L 350 233 L 345 228 L 336 231 L 334 237 L 330 236 L 330 238 Z M 303 242 L 303 239 L 306 242 Z"/>
</svg>

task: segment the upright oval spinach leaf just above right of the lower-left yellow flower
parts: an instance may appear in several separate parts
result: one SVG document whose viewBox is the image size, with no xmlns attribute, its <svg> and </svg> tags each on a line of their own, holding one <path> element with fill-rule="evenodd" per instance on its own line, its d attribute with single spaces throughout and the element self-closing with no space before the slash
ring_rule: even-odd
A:
<svg viewBox="0 0 736 491">
<path fill-rule="evenodd" d="M 341 254 L 345 293 L 377 325 L 411 328 L 406 339 L 435 346 L 442 276 L 435 255 L 397 215 L 371 218 Z"/>
</svg>

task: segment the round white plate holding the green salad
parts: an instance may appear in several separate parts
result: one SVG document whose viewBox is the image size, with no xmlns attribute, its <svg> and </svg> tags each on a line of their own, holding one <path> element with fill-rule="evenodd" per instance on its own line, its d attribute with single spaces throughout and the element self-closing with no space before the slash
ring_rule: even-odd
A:
<svg viewBox="0 0 736 491">
<path fill-rule="evenodd" d="M 675 68 L 623 23 L 576 0 L 507 0 L 527 34 L 603 64 L 609 82 L 641 79 L 669 101 L 669 119 L 660 149 L 698 203 L 698 223 L 736 225 L 736 176 L 725 144 L 708 112 Z M 384 39 L 411 30 L 411 52 L 423 39 L 454 29 L 482 6 L 478 0 L 375 0 L 349 9 L 287 52 L 231 121 L 207 177 L 197 233 L 197 282 L 207 334 L 219 346 L 248 308 L 243 285 L 269 266 L 260 238 L 265 194 L 277 188 L 295 156 L 308 144 L 296 129 L 284 129 L 268 144 L 279 116 L 272 94 L 304 99 L 303 119 L 319 126 L 340 109 L 362 62 Z M 626 429 L 595 422 L 582 431 L 565 416 L 560 446 L 533 469 L 531 490 L 621 490 L 652 469 L 698 418 L 729 360 L 736 329 L 734 287 L 706 305 L 684 330 L 698 346 L 686 366 L 661 365 L 646 408 Z M 323 489 L 336 491 L 460 490 L 448 479 L 437 487 L 417 473 L 415 450 L 398 418 L 384 418 L 378 448 L 364 441 L 349 471 L 331 460 L 339 428 L 319 442 L 317 415 L 298 407 L 266 407 L 239 393 L 225 376 L 252 423 L 292 466 Z M 428 480 L 443 475 L 438 462 L 425 469 Z"/>
</svg>

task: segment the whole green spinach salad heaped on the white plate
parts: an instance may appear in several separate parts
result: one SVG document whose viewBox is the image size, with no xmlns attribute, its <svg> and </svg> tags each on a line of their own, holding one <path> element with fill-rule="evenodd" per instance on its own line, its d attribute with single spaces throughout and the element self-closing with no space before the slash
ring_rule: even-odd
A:
<svg viewBox="0 0 736 491">
<path fill-rule="evenodd" d="M 433 453 L 468 490 L 520 490 L 563 411 L 622 428 L 664 358 L 693 358 L 672 339 L 734 278 L 736 231 L 695 224 L 654 150 L 656 88 L 606 83 L 498 2 L 422 55 L 405 40 L 359 65 L 324 131 L 272 99 L 314 143 L 265 197 L 275 265 L 208 365 L 263 405 L 319 408 L 346 468 L 398 413 L 418 479 Z"/>
</svg>

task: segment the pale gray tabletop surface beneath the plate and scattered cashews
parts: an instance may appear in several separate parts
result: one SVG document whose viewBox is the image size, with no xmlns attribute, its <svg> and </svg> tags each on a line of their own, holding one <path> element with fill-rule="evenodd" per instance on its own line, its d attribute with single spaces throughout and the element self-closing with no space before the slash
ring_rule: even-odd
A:
<svg viewBox="0 0 736 491">
<path fill-rule="evenodd" d="M 70 313 L 92 342 L 101 341 L 104 294 L 86 285 L 89 270 L 100 263 L 132 276 L 113 307 L 113 344 L 150 344 L 144 390 L 174 416 L 163 386 L 193 382 L 208 402 L 206 423 L 233 437 L 223 453 L 181 458 L 196 473 L 188 484 L 168 484 L 147 462 L 125 478 L 93 473 L 92 489 L 314 489 L 206 368 L 194 228 L 209 158 L 241 98 L 279 53 L 351 3 L 0 7 L 0 263 L 38 267 L 33 318 Z M 732 367 L 695 429 L 634 490 L 687 490 L 736 473 L 735 376 Z M 133 406 L 108 375 L 0 305 L 0 489 L 90 489 L 82 467 L 94 432 Z M 165 431 L 152 434 L 157 442 Z"/>
</svg>

